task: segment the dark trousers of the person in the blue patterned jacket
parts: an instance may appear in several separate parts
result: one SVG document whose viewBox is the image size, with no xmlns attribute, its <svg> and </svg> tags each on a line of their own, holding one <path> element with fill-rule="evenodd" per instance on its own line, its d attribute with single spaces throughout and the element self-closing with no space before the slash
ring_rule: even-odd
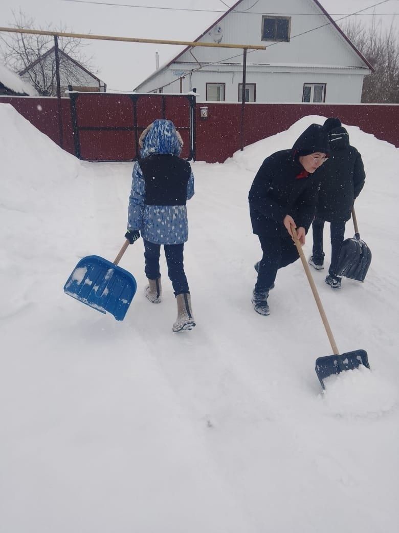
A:
<svg viewBox="0 0 399 533">
<path fill-rule="evenodd" d="M 174 296 L 188 293 L 188 284 L 183 266 L 184 244 L 163 245 L 165 257 L 168 265 L 168 276 L 172 282 Z M 161 245 L 149 243 L 144 240 L 145 275 L 148 279 L 158 279 L 161 276 L 159 269 L 159 258 L 161 255 Z"/>
</svg>

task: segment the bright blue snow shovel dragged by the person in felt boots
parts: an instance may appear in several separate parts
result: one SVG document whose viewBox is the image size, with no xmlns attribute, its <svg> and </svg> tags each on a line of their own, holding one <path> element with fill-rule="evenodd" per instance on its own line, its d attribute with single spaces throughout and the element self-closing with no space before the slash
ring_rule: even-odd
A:
<svg viewBox="0 0 399 533">
<path fill-rule="evenodd" d="M 117 266 L 129 246 L 126 239 L 114 262 L 98 255 L 83 257 L 64 285 L 64 292 L 101 313 L 123 320 L 136 293 L 136 280 Z"/>
</svg>

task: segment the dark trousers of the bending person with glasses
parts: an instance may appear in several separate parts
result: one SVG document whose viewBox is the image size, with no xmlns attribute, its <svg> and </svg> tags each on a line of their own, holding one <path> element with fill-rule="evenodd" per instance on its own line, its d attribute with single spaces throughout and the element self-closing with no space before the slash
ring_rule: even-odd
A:
<svg viewBox="0 0 399 533">
<path fill-rule="evenodd" d="M 281 224 L 271 221 L 268 229 L 258 237 L 263 256 L 257 273 L 256 292 L 269 289 L 275 282 L 277 270 L 299 258 L 294 241 Z"/>
</svg>

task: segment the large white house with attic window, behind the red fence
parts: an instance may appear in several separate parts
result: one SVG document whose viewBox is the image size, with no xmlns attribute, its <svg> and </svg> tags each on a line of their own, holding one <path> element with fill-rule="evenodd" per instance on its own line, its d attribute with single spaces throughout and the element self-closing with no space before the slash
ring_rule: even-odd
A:
<svg viewBox="0 0 399 533">
<path fill-rule="evenodd" d="M 267 46 L 247 52 L 249 102 L 359 103 L 372 70 L 317 0 L 240 0 L 195 41 Z M 239 102 L 242 80 L 242 50 L 188 46 L 135 91 Z"/>
</svg>

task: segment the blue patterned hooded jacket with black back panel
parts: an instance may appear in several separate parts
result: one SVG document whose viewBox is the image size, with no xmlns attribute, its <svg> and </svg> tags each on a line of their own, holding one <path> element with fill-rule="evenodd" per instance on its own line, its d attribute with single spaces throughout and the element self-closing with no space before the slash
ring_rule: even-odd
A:
<svg viewBox="0 0 399 533">
<path fill-rule="evenodd" d="M 179 156 L 181 146 L 180 135 L 170 120 L 154 120 L 140 136 L 140 155 L 143 158 L 152 154 Z M 194 175 L 190 171 L 186 199 L 189 200 L 193 195 Z M 162 197 L 162 191 L 157 196 Z M 185 243 L 188 238 L 186 205 L 162 204 L 146 203 L 145 177 L 139 163 L 135 163 L 129 197 L 128 229 L 139 230 L 143 239 L 154 244 Z"/>
</svg>

